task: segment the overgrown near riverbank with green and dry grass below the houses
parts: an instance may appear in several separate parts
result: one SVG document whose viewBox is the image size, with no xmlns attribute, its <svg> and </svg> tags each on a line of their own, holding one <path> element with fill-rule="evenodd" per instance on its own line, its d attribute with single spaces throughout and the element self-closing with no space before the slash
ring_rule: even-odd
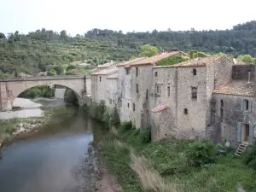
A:
<svg viewBox="0 0 256 192">
<path fill-rule="evenodd" d="M 227 154 L 218 156 L 216 151 L 223 147 L 212 146 L 212 163 L 193 166 L 185 155 L 188 146 L 202 148 L 205 147 L 203 142 L 173 139 L 145 143 L 142 138 L 140 131 L 120 127 L 109 131 L 96 143 L 103 167 L 116 177 L 122 191 L 231 192 L 256 189 L 256 172 L 245 166 L 241 158 L 236 158 L 233 150 L 225 148 Z"/>
</svg>

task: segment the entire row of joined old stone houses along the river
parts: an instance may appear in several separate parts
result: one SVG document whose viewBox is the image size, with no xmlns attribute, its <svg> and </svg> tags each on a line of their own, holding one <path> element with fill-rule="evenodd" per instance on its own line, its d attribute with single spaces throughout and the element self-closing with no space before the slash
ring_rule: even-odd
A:
<svg viewBox="0 0 256 192">
<path fill-rule="evenodd" d="M 171 52 L 110 65 L 91 74 L 93 102 L 117 107 L 121 121 L 152 127 L 152 139 L 211 138 L 253 143 L 256 70 L 210 56 L 158 66 Z"/>
</svg>

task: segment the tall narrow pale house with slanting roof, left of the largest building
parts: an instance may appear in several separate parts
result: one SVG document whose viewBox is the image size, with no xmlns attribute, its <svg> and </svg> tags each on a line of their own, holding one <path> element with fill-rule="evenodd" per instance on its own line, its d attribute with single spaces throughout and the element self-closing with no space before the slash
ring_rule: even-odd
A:
<svg viewBox="0 0 256 192">
<path fill-rule="evenodd" d="M 174 51 L 147 58 L 137 58 L 137 61 L 119 65 L 118 92 L 121 119 L 131 120 L 137 128 L 150 125 L 149 100 L 153 67 L 164 59 L 184 55 L 181 51 Z"/>
</svg>

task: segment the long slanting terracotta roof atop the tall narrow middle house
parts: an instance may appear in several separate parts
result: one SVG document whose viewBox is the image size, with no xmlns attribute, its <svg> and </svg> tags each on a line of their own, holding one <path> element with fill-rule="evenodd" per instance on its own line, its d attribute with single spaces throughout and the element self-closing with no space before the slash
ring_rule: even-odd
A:
<svg viewBox="0 0 256 192">
<path fill-rule="evenodd" d="M 166 59 L 168 57 L 172 57 L 172 56 L 175 56 L 177 54 L 180 54 L 181 51 L 172 51 L 172 52 L 169 52 L 169 53 L 163 53 L 163 54 L 160 54 L 160 55 L 155 55 L 155 56 L 151 56 L 151 57 L 148 57 L 142 61 L 136 61 L 136 62 L 133 62 L 131 64 L 131 66 L 140 66 L 140 65 L 153 65 L 155 64 L 157 61 L 160 61 L 162 59 Z"/>
</svg>

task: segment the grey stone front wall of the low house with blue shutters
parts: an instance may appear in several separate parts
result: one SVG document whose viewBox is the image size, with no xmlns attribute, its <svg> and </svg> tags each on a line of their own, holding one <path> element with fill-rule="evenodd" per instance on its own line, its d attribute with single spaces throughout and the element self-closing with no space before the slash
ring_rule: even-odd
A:
<svg viewBox="0 0 256 192">
<path fill-rule="evenodd" d="M 252 111 L 241 111 L 241 102 L 247 99 L 252 102 Z M 220 118 L 221 100 L 224 102 L 224 116 Z M 213 94 L 212 96 L 212 122 L 209 127 L 211 131 L 212 141 L 221 143 L 228 141 L 231 147 L 237 147 L 239 143 L 236 142 L 237 137 L 237 122 L 252 124 L 255 126 L 256 122 L 256 100 L 254 97 L 246 96 L 230 96 L 222 94 Z M 255 137 L 254 129 L 254 137 Z"/>
</svg>

